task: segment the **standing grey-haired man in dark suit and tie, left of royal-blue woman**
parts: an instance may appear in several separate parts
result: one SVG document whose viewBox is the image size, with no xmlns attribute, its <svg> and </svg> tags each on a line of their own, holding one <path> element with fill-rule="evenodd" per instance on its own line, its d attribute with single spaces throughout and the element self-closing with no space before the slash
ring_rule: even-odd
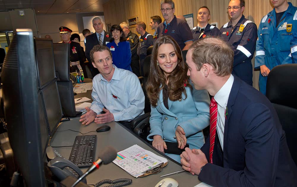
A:
<svg viewBox="0 0 297 187">
<path fill-rule="evenodd" d="M 92 20 L 94 34 L 86 37 L 86 57 L 89 61 L 89 69 L 91 70 L 92 76 L 95 77 L 99 73 L 98 69 L 94 68 L 91 64 L 90 51 L 95 45 L 106 45 L 110 41 L 108 32 L 103 30 L 104 23 L 100 17 L 95 17 Z"/>
</svg>

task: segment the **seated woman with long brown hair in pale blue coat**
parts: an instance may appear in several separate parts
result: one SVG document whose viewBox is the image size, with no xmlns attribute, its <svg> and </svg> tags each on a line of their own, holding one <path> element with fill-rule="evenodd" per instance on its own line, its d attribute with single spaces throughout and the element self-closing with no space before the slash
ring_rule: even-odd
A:
<svg viewBox="0 0 297 187">
<path fill-rule="evenodd" d="M 202 129 L 209 125 L 209 96 L 189 83 L 181 49 L 170 36 L 154 44 L 146 90 L 151 102 L 151 131 L 148 140 L 162 153 L 166 142 L 176 147 L 199 149 L 204 144 Z M 180 162 L 178 154 L 165 153 Z"/>
</svg>

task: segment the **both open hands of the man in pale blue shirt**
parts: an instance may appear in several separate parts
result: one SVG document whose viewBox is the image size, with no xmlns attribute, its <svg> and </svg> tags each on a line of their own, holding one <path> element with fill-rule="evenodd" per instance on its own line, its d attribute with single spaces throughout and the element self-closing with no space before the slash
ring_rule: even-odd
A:
<svg viewBox="0 0 297 187">
<path fill-rule="evenodd" d="M 105 114 L 98 115 L 89 107 L 86 107 L 85 109 L 87 110 L 87 112 L 84 115 L 80 116 L 79 120 L 80 122 L 82 122 L 83 125 L 89 125 L 89 123 L 91 123 L 92 121 L 94 121 L 97 124 L 109 123 L 111 121 L 114 121 L 113 114 L 105 108 L 103 108 Z"/>
</svg>

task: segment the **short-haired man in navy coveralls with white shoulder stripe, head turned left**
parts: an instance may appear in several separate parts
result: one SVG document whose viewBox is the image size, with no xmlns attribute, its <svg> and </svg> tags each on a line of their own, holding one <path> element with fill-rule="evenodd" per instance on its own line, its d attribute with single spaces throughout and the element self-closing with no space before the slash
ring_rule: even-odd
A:
<svg viewBox="0 0 297 187">
<path fill-rule="evenodd" d="M 146 24 L 142 21 L 136 23 L 136 32 L 140 34 L 137 54 L 140 62 L 140 73 L 143 75 L 143 61 L 146 58 L 146 51 L 149 46 L 154 44 L 154 39 L 151 34 L 146 32 Z"/>
</svg>

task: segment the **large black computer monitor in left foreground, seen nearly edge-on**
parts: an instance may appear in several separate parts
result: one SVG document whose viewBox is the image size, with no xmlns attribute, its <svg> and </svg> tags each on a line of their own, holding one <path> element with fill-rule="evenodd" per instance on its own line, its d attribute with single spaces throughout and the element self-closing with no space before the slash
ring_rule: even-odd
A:
<svg viewBox="0 0 297 187">
<path fill-rule="evenodd" d="M 39 89 L 31 29 L 17 29 L 1 73 L 4 113 L 14 158 L 26 186 L 46 186 Z M 48 76 L 52 77 L 52 75 Z M 41 79 L 46 82 L 46 79 Z M 42 108 L 41 108 L 42 109 Z"/>
</svg>

